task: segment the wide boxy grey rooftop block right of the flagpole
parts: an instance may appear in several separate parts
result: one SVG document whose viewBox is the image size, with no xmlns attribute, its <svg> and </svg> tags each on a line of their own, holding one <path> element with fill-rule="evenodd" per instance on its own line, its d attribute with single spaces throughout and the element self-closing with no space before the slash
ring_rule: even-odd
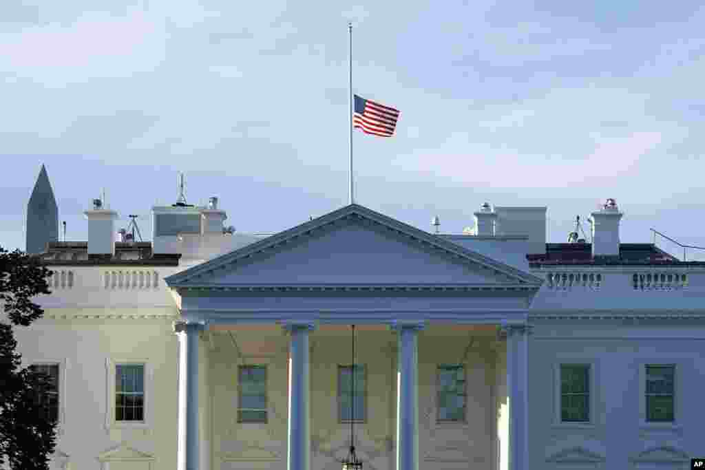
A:
<svg viewBox="0 0 705 470">
<path fill-rule="evenodd" d="M 496 235 L 523 235 L 528 238 L 527 254 L 546 253 L 546 207 L 499 207 Z"/>
</svg>

